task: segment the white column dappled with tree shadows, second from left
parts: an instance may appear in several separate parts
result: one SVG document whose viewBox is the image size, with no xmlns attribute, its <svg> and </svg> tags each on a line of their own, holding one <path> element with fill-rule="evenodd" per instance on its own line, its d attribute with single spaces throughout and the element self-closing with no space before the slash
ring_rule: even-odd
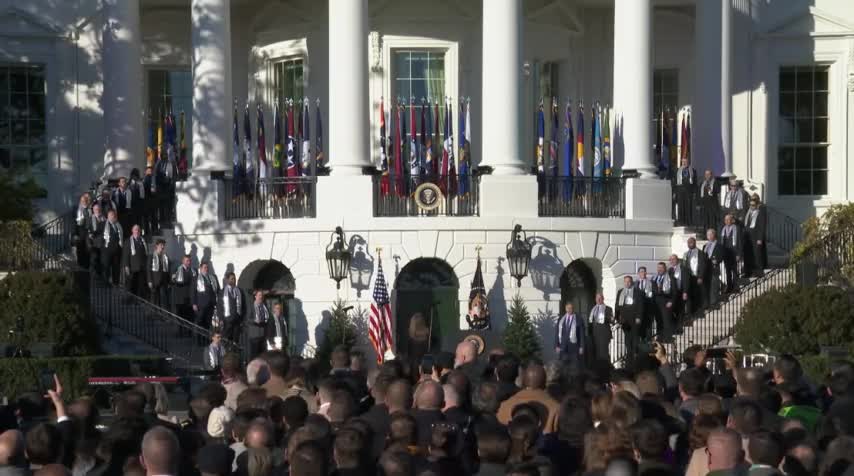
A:
<svg viewBox="0 0 854 476">
<path fill-rule="evenodd" d="M 231 170 L 231 0 L 192 0 L 193 171 Z"/>
</svg>

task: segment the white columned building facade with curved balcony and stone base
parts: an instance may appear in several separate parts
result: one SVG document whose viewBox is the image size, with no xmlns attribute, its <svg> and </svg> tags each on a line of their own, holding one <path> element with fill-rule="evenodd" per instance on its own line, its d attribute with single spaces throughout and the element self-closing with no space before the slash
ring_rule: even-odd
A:
<svg viewBox="0 0 854 476">
<path fill-rule="evenodd" d="M 471 164 L 489 171 L 437 212 L 389 205 L 366 174 L 380 102 L 411 96 L 453 111 L 465 98 Z M 252 111 L 256 154 L 264 111 L 270 158 L 274 106 L 303 97 L 330 174 L 308 180 L 298 213 L 242 212 L 255 205 L 232 193 L 235 105 L 241 144 Z M 579 101 L 610 113 L 614 175 L 626 173 L 604 211 L 543 206 L 536 113 L 552 97 L 560 111 L 572 101 L 573 120 Z M 678 146 L 700 173 L 734 175 L 800 220 L 854 196 L 853 102 L 847 0 L 0 0 L 0 168 L 42 183 L 41 213 L 55 216 L 93 181 L 144 167 L 152 117 L 184 112 L 192 165 L 170 252 L 220 277 L 284 265 L 299 348 L 316 345 L 336 297 L 369 306 L 380 259 L 396 322 L 433 306 L 443 339 L 465 332 L 480 257 L 492 335 L 519 293 L 549 338 L 565 301 L 602 290 L 613 303 L 623 276 L 684 250 L 655 176 L 662 110 L 690 111 Z M 504 259 L 517 225 L 533 246 L 521 284 Z M 336 227 L 353 253 L 340 289 L 324 254 Z"/>
</svg>

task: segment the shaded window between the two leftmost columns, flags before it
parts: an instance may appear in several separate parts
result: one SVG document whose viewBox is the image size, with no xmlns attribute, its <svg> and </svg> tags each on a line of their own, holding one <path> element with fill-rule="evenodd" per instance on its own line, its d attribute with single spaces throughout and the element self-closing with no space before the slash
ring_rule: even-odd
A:
<svg viewBox="0 0 854 476">
<path fill-rule="evenodd" d="M 193 156 L 193 75 L 189 69 L 148 70 L 148 129 L 171 112 L 175 115 L 176 140 L 180 141 L 181 113 L 184 113 L 184 143 L 187 157 Z M 150 138 L 147 140 L 151 140 Z M 156 140 L 156 139 L 155 139 Z"/>
</svg>

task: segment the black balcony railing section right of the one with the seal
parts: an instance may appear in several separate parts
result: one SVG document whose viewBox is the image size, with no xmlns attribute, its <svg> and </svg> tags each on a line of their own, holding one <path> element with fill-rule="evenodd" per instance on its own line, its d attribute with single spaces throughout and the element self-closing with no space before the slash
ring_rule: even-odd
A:
<svg viewBox="0 0 854 476">
<path fill-rule="evenodd" d="M 624 218 L 621 177 L 538 177 L 541 217 Z"/>
</svg>

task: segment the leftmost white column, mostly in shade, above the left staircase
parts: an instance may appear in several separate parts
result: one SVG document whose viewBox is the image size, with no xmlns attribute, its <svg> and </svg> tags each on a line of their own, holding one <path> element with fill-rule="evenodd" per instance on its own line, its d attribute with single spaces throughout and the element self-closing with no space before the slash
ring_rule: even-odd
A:
<svg viewBox="0 0 854 476">
<path fill-rule="evenodd" d="M 127 176 L 145 165 L 139 0 L 105 0 L 104 176 Z"/>
</svg>

